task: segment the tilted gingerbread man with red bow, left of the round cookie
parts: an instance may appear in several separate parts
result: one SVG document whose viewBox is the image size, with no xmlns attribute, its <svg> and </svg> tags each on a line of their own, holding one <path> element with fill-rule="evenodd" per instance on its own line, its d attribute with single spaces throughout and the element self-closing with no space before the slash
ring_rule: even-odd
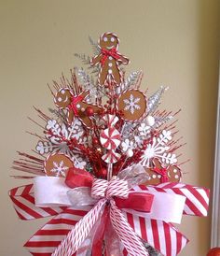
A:
<svg viewBox="0 0 220 256">
<path fill-rule="evenodd" d="M 78 95 L 74 95 L 73 92 L 68 88 L 60 89 L 55 97 L 54 102 L 57 107 L 68 110 L 68 122 L 72 123 L 75 117 L 79 118 L 85 125 L 88 127 L 92 126 L 92 122 L 89 119 L 89 115 L 87 113 L 87 108 L 92 109 L 94 114 L 99 113 L 101 111 L 100 107 L 94 106 L 92 104 L 88 104 L 86 102 L 86 97 L 89 92 L 81 92 Z"/>
</svg>

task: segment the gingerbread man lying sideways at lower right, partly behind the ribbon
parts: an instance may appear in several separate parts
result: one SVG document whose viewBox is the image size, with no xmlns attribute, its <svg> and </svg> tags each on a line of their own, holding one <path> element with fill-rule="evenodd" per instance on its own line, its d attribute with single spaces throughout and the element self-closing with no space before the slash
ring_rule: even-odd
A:
<svg viewBox="0 0 220 256">
<path fill-rule="evenodd" d="M 149 179 L 144 182 L 144 185 L 158 185 L 164 182 L 179 182 L 182 173 L 179 167 L 176 165 L 169 165 L 164 167 L 157 158 L 153 160 L 154 166 L 147 168 L 146 173 L 149 175 Z"/>
</svg>

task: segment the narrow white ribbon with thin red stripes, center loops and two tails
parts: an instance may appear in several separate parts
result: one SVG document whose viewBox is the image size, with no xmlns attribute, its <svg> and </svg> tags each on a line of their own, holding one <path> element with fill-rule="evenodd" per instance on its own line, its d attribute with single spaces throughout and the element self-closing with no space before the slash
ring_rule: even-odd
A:
<svg viewBox="0 0 220 256">
<path fill-rule="evenodd" d="M 94 186 L 95 188 L 93 189 L 93 192 L 95 193 L 96 198 L 97 196 L 102 197 L 103 190 L 100 189 L 99 186 L 106 188 L 106 183 L 103 183 L 102 179 L 96 179 Z M 126 221 L 124 218 L 122 212 L 117 208 L 113 199 L 113 196 L 119 196 L 122 198 L 128 197 L 128 183 L 124 180 L 111 180 L 108 182 L 105 194 L 106 195 L 99 200 L 99 202 L 89 211 L 89 213 L 76 223 L 76 226 L 66 236 L 61 245 L 54 251 L 52 256 L 72 256 L 73 253 L 75 253 L 80 247 L 87 235 L 89 235 L 91 228 L 94 226 L 97 220 L 99 220 L 103 206 L 107 202 L 110 202 L 110 220 L 112 221 L 118 237 L 121 239 L 121 242 L 130 255 L 148 255 L 140 237 L 135 234 L 128 221 Z"/>
</svg>

